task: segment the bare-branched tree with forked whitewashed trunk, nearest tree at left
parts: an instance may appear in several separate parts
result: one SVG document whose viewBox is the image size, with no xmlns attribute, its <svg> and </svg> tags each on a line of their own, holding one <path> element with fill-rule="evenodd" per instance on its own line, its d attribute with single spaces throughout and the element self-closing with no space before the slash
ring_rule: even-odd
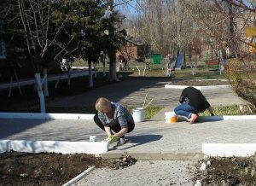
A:
<svg viewBox="0 0 256 186">
<path fill-rule="evenodd" d="M 1 10 L 1 18 L 8 25 L 6 34 L 22 36 L 26 41 L 28 59 L 35 73 L 38 86 L 41 113 L 45 113 L 44 95 L 48 96 L 46 67 L 54 62 L 54 49 L 58 47 L 65 19 L 59 26 L 54 25 L 53 9 L 60 1 L 17 0 L 3 1 L 6 9 Z M 60 44 L 59 44 L 60 46 Z M 64 47 L 65 48 L 65 47 Z M 44 78 L 40 73 L 44 69 Z M 44 91 L 43 91 L 44 84 Z"/>
</svg>

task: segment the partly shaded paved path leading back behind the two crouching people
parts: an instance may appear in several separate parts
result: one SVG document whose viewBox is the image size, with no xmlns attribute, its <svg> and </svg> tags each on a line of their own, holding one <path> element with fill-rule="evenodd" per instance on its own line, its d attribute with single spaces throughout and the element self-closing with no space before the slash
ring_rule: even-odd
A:
<svg viewBox="0 0 256 186">
<path fill-rule="evenodd" d="M 170 79 L 171 81 L 171 79 Z M 48 102 L 48 106 L 74 107 L 94 105 L 98 97 L 107 97 L 113 102 L 121 102 L 127 106 L 142 107 L 144 97 L 148 93 L 147 101 L 152 98 L 153 105 L 164 106 L 173 109 L 178 104 L 178 98 L 182 90 L 165 89 L 164 85 L 169 83 L 166 79 L 131 79 L 115 84 L 108 84 L 94 90 L 90 90 L 78 96 L 68 96 L 54 102 Z M 214 105 L 240 104 L 239 99 L 230 88 L 216 90 L 203 90 L 207 100 Z"/>
</svg>

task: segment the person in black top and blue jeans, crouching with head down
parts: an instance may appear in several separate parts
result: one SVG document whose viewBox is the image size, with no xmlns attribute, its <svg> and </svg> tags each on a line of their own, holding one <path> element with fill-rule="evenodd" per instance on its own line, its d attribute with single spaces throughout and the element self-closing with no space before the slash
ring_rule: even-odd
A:
<svg viewBox="0 0 256 186">
<path fill-rule="evenodd" d="M 183 92 L 179 98 L 181 105 L 174 109 L 177 115 L 185 116 L 189 119 L 189 124 L 195 122 L 198 118 L 198 113 L 204 112 L 206 109 L 213 116 L 213 110 L 207 98 L 203 96 L 200 90 L 194 87 L 187 87 L 183 89 Z"/>
</svg>

